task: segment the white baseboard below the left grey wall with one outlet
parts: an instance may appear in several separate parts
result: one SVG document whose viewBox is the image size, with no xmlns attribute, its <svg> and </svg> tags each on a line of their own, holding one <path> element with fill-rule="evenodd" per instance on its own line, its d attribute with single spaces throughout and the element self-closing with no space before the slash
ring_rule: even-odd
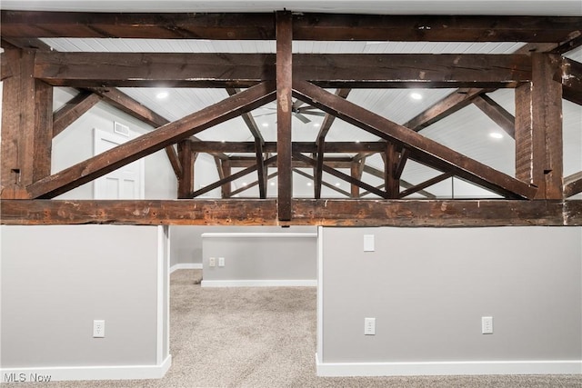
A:
<svg viewBox="0 0 582 388">
<path fill-rule="evenodd" d="M 172 356 L 159 365 L 63 366 L 53 368 L 0 369 L 0 383 L 39 383 L 76 380 L 161 379 L 172 365 Z"/>
</svg>

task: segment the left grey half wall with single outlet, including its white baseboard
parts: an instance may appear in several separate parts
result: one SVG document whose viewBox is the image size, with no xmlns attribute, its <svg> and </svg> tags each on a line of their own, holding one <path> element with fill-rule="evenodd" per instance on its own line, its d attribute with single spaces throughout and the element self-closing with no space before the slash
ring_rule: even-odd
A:
<svg viewBox="0 0 582 388">
<path fill-rule="evenodd" d="M 169 367 L 162 226 L 6 226 L 2 379 L 161 377 Z M 167 228 L 166 228 L 167 229 Z M 105 320 L 105 338 L 93 321 Z"/>
</svg>

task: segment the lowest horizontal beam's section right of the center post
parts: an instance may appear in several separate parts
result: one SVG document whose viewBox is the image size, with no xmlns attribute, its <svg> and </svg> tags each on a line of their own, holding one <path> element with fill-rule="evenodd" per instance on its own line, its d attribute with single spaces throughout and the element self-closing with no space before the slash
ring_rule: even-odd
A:
<svg viewBox="0 0 582 388">
<path fill-rule="evenodd" d="M 564 212 L 564 214 L 562 214 Z M 582 201 L 296 200 L 295 224 L 327 226 L 580 225 Z"/>
</svg>

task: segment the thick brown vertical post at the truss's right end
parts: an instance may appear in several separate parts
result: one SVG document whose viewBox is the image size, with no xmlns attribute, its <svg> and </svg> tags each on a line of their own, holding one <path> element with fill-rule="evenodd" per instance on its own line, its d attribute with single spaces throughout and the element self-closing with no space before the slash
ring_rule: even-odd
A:
<svg viewBox="0 0 582 388">
<path fill-rule="evenodd" d="M 562 85 L 557 55 L 532 53 L 532 82 L 516 89 L 516 177 L 538 187 L 536 199 L 561 199 Z"/>
</svg>

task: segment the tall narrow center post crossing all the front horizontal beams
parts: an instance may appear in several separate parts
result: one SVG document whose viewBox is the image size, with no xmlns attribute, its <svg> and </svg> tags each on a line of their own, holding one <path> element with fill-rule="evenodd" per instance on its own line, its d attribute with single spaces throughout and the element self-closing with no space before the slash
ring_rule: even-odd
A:
<svg viewBox="0 0 582 388">
<path fill-rule="evenodd" d="M 291 108 L 292 108 L 292 15 L 276 13 L 276 151 L 277 151 L 277 213 L 279 221 L 291 220 L 293 174 L 291 170 Z"/>
</svg>

